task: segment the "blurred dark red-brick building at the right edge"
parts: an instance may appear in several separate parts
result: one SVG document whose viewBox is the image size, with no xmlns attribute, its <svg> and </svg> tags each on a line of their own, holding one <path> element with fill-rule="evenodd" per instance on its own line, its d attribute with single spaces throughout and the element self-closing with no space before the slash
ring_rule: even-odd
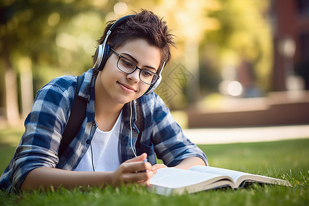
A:
<svg viewBox="0 0 309 206">
<path fill-rule="evenodd" d="M 275 52 L 274 91 L 293 89 L 290 87 L 304 87 L 308 90 L 309 1 L 271 0 L 271 20 Z"/>
</svg>

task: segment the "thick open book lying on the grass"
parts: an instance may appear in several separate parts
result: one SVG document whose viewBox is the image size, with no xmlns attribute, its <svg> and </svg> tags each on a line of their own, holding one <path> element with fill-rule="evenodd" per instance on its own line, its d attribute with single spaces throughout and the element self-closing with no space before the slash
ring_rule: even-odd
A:
<svg viewBox="0 0 309 206">
<path fill-rule="evenodd" d="M 161 195 L 183 194 L 211 190 L 218 187 L 244 186 L 246 182 L 291 186 L 288 181 L 268 176 L 238 172 L 209 166 L 194 166 L 189 170 L 161 168 L 150 179 L 149 190 Z"/>
</svg>

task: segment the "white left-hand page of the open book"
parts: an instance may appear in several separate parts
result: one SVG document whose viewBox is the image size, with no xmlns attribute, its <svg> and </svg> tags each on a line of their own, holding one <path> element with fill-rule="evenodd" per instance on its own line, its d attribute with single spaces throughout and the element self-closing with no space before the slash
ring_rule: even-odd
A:
<svg viewBox="0 0 309 206">
<path fill-rule="evenodd" d="M 207 174 L 190 170 L 181 170 L 177 168 L 161 168 L 150 179 L 150 185 L 159 185 L 163 187 L 179 188 L 195 185 L 209 181 L 209 184 L 220 179 L 230 179 L 220 174 Z M 207 182 L 208 183 L 208 182 Z"/>
</svg>

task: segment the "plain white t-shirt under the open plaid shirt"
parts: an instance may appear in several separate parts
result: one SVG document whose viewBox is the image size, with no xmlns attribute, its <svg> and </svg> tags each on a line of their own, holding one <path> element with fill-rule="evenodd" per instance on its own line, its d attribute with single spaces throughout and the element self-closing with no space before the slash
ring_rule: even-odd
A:
<svg viewBox="0 0 309 206">
<path fill-rule="evenodd" d="M 120 113 L 113 128 L 104 132 L 96 128 L 95 135 L 91 141 L 86 154 L 78 163 L 75 171 L 115 171 L 120 165 L 119 160 L 119 133 L 122 120 L 122 112 Z M 92 147 L 92 152 L 91 152 Z M 92 164 L 93 160 L 93 164 Z"/>
</svg>

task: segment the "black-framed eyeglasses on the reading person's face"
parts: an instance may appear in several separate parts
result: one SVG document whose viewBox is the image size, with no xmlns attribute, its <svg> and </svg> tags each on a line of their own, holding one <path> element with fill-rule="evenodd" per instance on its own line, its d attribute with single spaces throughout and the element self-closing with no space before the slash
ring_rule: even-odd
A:
<svg viewBox="0 0 309 206">
<path fill-rule="evenodd" d="M 148 69 L 141 69 L 135 65 L 135 63 L 128 58 L 118 54 L 113 48 L 113 53 L 118 56 L 117 68 L 124 73 L 133 73 L 136 69 L 139 69 L 139 80 L 145 84 L 154 84 L 158 79 L 159 75 L 155 72 L 149 71 Z"/>
</svg>

